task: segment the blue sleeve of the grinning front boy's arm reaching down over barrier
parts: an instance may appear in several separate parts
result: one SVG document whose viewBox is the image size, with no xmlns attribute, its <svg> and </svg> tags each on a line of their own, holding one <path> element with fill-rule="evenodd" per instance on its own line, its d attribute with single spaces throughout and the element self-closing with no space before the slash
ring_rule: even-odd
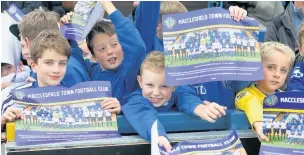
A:
<svg viewBox="0 0 304 155">
<path fill-rule="evenodd" d="M 122 111 L 136 130 L 136 132 L 147 141 L 151 141 L 151 127 L 158 120 L 158 112 L 141 94 L 131 94 L 127 96 L 126 104 L 122 106 Z M 166 130 L 158 120 L 158 134 L 166 137 Z"/>
</svg>

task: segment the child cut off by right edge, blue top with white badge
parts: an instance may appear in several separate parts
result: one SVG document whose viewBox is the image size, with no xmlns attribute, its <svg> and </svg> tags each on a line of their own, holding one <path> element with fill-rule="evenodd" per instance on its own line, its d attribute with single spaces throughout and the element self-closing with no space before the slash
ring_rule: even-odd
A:
<svg viewBox="0 0 304 155">
<path fill-rule="evenodd" d="M 304 22 L 299 28 L 299 54 L 304 57 Z M 288 91 L 304 91 L 304 62 L 295 64 L 291 79 L 288 84 Z"/>
</svg>

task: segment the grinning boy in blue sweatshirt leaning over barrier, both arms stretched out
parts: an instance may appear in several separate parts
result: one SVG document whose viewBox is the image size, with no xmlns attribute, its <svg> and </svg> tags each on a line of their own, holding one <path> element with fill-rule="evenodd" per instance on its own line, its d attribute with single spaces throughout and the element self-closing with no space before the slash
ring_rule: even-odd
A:
<svg viewBox="0 0 304 155">
<path fill-rule="evenodd" d="M 158 112 L 169 111 L 176 104 L 178 110 L 192 116 L 199 116 L 209 122 L 225 115 L 226 108 L 216 103 L 200 100 L 189 86 L 166 86 L 164 54 L 151 52 L 147 55 L 137 76 L 141 89 L 124 97 L 122 110 L 125 117 L 138 134 L 146 140 L 151 140 L 151 127 L 158 119 Z M 166 138 L 166 130 L 158 122 L 158 143 L 171 150 Z"/>
</svg>

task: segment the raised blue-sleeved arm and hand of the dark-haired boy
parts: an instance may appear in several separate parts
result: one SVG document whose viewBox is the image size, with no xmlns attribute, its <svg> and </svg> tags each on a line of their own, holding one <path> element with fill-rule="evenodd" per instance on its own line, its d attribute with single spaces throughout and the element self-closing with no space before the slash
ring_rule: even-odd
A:
<svg viewBox="0 0 304 155">
<path fill-rule="evenodd" d="M 133 86 L 139 67 L 145 57 L 146 47 L 133 23 L 117 10 L 112 2 L 102 2 L 104 10 L 109 14 L 117 38 L 124 52 L 122 76 L 125 77 L 128 91 L 134 91 Z M 105 5 L 104 5 L 105 4 Z"/>
</svg>

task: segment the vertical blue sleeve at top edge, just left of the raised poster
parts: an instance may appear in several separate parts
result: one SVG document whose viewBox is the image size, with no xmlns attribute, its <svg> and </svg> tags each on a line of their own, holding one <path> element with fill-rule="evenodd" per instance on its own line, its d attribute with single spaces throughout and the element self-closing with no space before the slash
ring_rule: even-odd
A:
<svg viewBox="0 0 304 155">
<path fill-rule="evenodd" d="M 153 50 L 159 11 L 160 1 L 141 1 L 136 8 L 135 27 L 146 45 L 146 53 Z"/>
</svg>

